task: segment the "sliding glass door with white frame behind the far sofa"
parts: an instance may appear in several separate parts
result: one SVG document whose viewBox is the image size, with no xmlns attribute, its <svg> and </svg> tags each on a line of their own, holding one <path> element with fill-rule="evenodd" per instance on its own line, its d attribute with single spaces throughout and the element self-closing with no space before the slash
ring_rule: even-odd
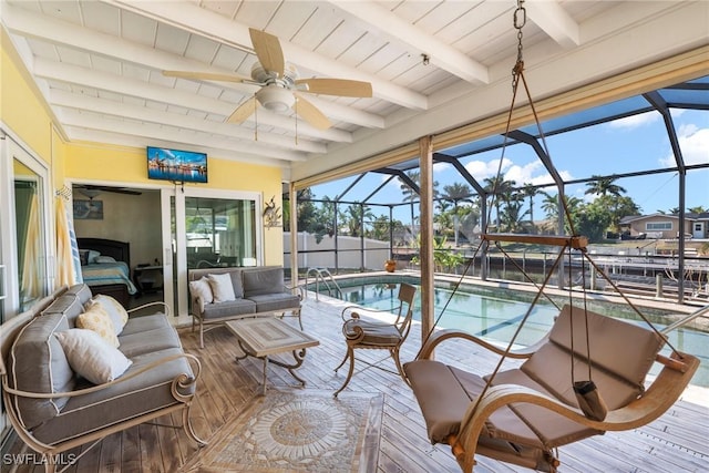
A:
<svg viewBox="0 0 709 473">
<path fill-rule="evenodd" d="M 261 264 L 258 208 L 258 193 L 163 191 L 165 301 L 173 313 L 189 313 L 189 269 Z"/>
</svg>

